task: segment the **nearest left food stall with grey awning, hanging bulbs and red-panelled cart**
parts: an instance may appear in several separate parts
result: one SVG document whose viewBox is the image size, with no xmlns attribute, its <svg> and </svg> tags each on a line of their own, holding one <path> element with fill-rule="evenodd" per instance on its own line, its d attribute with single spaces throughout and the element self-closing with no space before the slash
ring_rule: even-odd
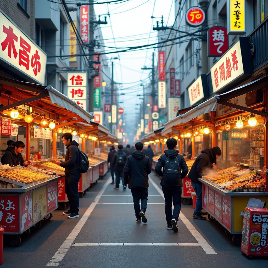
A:
<svg viewBox="0 0 268 268">
<path fill-rule="evenodd" d="M 57 154 L 55 126 L 68 120 L 64 124 L 70 127 L 78 121 L 90 122 L 91 115 L 51 86 L 0 77 L 0 88 L 1 151 L 7 140 L 23 141 L 24 160 L 33 164 L 0 166 L 0 226 L 10 244 L 18 246 L 20 234 L 29 234 L 42 219 L 51 219 L 58 207 L 58 184 L 64 173 L 39 167 Z"/>
</svg>

